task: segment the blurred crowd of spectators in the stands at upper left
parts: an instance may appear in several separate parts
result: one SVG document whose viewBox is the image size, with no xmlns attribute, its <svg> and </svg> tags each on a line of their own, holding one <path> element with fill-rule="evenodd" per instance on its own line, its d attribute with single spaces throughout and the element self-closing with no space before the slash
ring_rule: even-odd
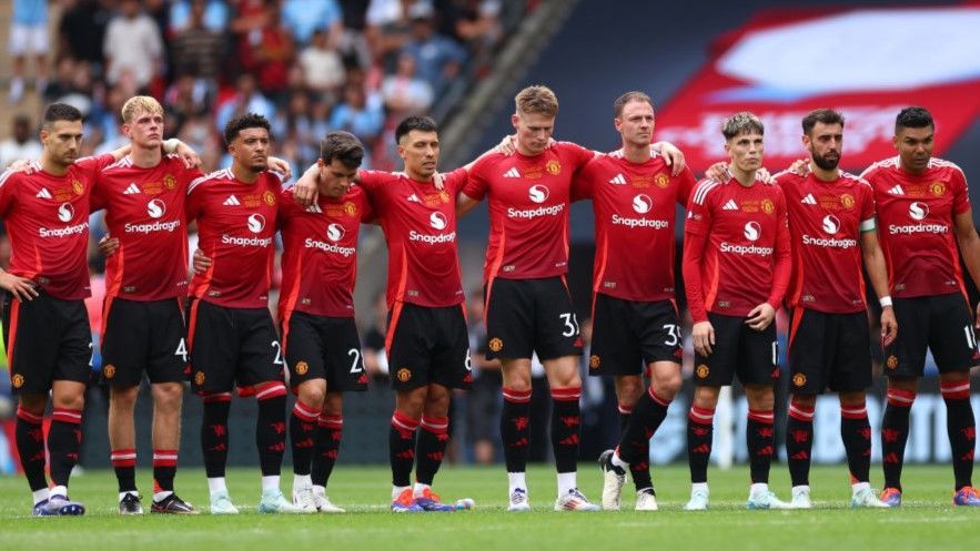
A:
<svg viewBox="0 0 980 551">
<path fill-rule="evenodd" d="M 365 166 L 393 170 L 397 121 L 451 108 L 441 100 L 486 73 L 535 3 L 14 0 L 9 100 L 34 90 L 77 106 L 90 152 L 124 141 L 119 110 L 143 93 L 162 100 L 168 137 L 201 152 L 205 171 L 222 165 L 221 129 L 245 111 L 273 121 L 276 153 L 295 166 L 316 159 L 326 132 L 347 130 L 368 147 Z"/>
</svg>

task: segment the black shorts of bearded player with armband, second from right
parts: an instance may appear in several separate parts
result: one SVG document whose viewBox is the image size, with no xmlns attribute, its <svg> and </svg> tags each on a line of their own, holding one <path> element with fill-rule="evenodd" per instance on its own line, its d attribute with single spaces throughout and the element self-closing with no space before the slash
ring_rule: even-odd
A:
<svg viewBox="0 0 980 551">
<path fill-rule="evenodd" d="M 797 308 L 789 323 L 789 391 L 853 392 L 871 386 L 868 314 Z"/>
</svg>

